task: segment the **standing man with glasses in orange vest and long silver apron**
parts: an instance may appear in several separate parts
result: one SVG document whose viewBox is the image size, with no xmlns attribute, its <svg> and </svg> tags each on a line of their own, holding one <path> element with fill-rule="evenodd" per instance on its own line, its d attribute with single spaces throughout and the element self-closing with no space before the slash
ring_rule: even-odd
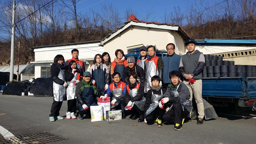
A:
<svg viewBox="0 0 256 144">
<path fill-rule="evenodd" d="M 156 56 L 155 46 L 152 46 L 152 45 L 148 46 L 147 51 L 148 51 L 148 57 L 147 57 L 147 60 L 145 61 L 146 63 L 145 93 L 147 93 L 148 90 L 151 89 L 151 86 L 152 86 L 151 78 L 154 75 L 158 75 L 160 77 L 160 86 L 162 86 L 162 81 L 163 81 L 163 60 Z"/>
</svg>

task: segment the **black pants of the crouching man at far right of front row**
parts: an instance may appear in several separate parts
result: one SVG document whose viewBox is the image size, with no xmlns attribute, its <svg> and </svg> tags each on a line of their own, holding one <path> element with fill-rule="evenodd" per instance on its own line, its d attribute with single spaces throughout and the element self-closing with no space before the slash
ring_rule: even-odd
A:
<svg viewBox="0 0 256 144">
<path fill-rule="evenodd" d="M 166 112 L 163 115 L 163 119 L 166 121 L 174 121 L 175 124 L 182 124 L 182 118 L 189 115 L 189 111 L 184 107 L 184 111 L 182 109 L 182 105 L 180 103 L 174 103 L 172 110 Z"/>
</svg>

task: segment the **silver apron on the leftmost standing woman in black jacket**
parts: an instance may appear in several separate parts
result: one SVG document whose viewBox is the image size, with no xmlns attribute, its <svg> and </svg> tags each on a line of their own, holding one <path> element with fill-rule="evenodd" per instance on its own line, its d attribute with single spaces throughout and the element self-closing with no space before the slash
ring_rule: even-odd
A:
<svg viewBox="0 0 256 144">
<path fill-rule="evenodd" d="M 60 68 L 61 69 L 61 68 Z M 58 74 L 58 78 L 61 79 L 62 81 L 65 81 L 65 74 L 64 74 L 64 70 L 60 70 L 59 74 Z M 63 101 L 64 97 L 65 97 L 65 93 L 66 93 L 66 88 L 63 85 L 59 85 L 56 84 L 53 81 L 53 97 L 55 101 Z"/>
</svg>

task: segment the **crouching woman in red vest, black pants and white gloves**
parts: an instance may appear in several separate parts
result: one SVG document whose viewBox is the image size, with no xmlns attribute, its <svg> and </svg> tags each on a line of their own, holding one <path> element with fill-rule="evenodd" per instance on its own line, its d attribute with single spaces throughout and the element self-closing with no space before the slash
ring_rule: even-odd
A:
<svg viewBox="0 0 256 144">
<path fill-rule="evenodd" d="M 138 122 L 144 121 L 143 110 L 145 106 L 144 86 L 141 83 L 137 83 L 137 74 L 131 73 L 129 76 L 129 83 L 125 90 L 125 103 L 127 104 L 127 110 L 131 110 L 130 118 L 132 120 L 138 119 Z"/>
</svg>

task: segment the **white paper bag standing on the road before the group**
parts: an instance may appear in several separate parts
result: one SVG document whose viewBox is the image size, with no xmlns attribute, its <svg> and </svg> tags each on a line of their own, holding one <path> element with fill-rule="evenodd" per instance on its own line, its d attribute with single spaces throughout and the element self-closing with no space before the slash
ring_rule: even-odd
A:
<svg viewBox="0 0 256 144">
<path fill-rule="evenodd" d="M 103 107 L 102 106 L 90 106 L 91 122 L 103 121 Z"/>
</svg>

